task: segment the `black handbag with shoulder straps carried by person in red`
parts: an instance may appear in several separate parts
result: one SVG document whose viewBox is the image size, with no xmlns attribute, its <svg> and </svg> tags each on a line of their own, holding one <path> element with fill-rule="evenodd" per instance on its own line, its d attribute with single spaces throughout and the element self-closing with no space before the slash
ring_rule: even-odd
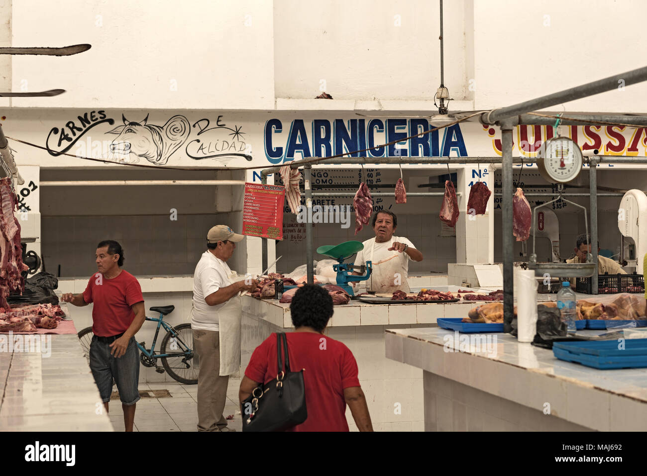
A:
<svg viewBox="0 0 647 476">
<path fill-rule="evenodd" d="M 281 348 L 285 353 L 285 369 L 281 359 Z M 303 383 L 305 369 L 290 371 L 287 337 L 284 332 L 276 333 L 276 355 L 276 378 L 266 385 L 261 382 L 252 395 L 243 401 L 243 431 L 285 431 L 308 418 Z"/>
</svg>

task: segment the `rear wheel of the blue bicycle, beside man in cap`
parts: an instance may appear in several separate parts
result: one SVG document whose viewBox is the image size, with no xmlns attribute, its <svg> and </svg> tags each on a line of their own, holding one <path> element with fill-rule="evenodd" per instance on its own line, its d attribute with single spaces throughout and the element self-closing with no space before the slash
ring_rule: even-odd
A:
<svg viewBox="0 0 647 476">
<path fill-rule="evenodd" d="M 180 324 L 173 327 L 177 338 L 166 332 L 162 339 L 160 352 L 162 354 L 173 354 L 184 352 L 187 349 L 191 351 L 190 356 L 180 355 L 171 357 L 162 357 L 162 365 L 166 372 L 181 384 L 195 385 L 198 383 L 199 362 L 197 356 L 193 354 L 193 330 L 191 324 Z M 182 345 L 184 344 L 184 345 Z M 188 367 L 187 367 L 188 366 Z"/>
</svg>

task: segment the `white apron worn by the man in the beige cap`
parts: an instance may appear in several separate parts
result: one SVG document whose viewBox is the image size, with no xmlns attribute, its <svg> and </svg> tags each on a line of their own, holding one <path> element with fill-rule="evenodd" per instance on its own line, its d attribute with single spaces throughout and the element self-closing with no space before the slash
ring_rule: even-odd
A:
<svg viewBox="0 0 647 476">
<path fill-rule="evenodd" d="M 237 277 L 236 271 L 228 276 L 230 283 Z M 220 342 L 220 374 L 236 373 L 241 365 L 241 318 L 243 306 L 236 294 L 218 310 L 218 336 Z"/>
</svg>

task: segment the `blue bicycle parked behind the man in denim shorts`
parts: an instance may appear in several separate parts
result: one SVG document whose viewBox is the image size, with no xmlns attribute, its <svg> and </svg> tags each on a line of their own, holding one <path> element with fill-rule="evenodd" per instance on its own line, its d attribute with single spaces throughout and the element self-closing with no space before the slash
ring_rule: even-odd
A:
<svg viewBox="0 0 647 476">
<path fill-rule="evenodd" d="M 139 360 L 144 367 L 155 367 L 157 373 L 164 373 L 164 370 L 173 377 L 174 380 L 181 384 L 195 385 L 198 383 L 199 360 L 197 354 L 193 352 L 193 330 L 191 324 L 179 324 L 172 326 L 164 322 L 164 316 L 171 314 L 175 306 L 158 306 L 151 307 L 153 312 L 159 312 L 159 318 L 146 317 L 147 321 L 157 322 L 153 345 L 146 349 L 146 342 L 137 342 L 137 347 L 141 351 Z M 164 327 L 166 335 L 160 344 L 160 352 L 155 352 L 155 343 L 160 327 Z M 94 334 L 92 327 L 86 327 L 78 333 L 81 347 L 85 352 L 85 358 L 89 360 L 90 343 Z M 157 359 L 162 361 L 164 369 L 157 365 Z"/>
</svg>

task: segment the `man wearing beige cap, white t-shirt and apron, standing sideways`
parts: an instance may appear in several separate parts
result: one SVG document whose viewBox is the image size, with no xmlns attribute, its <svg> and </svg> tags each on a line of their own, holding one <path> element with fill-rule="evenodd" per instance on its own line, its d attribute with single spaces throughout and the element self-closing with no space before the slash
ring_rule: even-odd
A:
<svg viewBox="0 0 647 476">
<path fill-rule="evenodd" d="M 235 281 L 226 261 L 243 240 L 226 225 L 206 235 L 207 250 L 193 273 L 191 327 L 200 362 L 198 374 L 198 431 L 233 431 L 223 415 L 229 376 L 239 369 L 241 302 L 239 292 L 253 291 L 255 279 Z"/>
</svg>

